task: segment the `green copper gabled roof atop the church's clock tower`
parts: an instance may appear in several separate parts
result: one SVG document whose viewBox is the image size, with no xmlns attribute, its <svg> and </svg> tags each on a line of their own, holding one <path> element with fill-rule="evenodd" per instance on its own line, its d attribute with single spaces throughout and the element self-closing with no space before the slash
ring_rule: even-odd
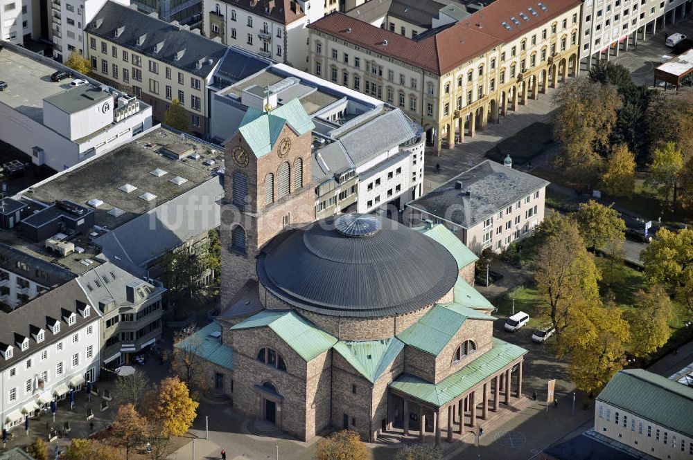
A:
<svg viewBox="0 0 693 460">
<path fill-rule="evenodd" d="M 269 112 L 249 107 L 240 122 L 238 131 L 243 135 L 257 158 L 267 155 L 277 143 L 284 125 L 301 136 L 315 129 L 313 120 L 298 99 L 292 99 Z"/>
</svg>

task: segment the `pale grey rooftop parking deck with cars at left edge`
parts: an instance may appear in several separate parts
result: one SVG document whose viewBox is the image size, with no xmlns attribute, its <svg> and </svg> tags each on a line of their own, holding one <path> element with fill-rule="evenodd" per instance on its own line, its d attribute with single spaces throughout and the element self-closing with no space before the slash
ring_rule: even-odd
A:
<svg viewBox="0 0 693 460">
<path fill-rule="evenodd" d="M 71 79 L 51 82 L 56 68 L 17 53 L 6 46 L 0 53 L 0 80 L 7 82 L 0 91 L 0 102 L 24 116 L 43 123 L 43 100 L 69 89 Z"/>
</svg>

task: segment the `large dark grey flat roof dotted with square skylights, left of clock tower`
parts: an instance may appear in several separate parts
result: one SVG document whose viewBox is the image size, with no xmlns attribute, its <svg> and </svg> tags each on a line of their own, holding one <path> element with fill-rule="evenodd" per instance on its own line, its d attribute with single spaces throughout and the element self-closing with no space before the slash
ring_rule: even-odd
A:
<svg viewBox="0 0 693 460">
<path fill-rule="evenodd" d="M 178 149 L 181 144 L 202 158 L 173 160 L 164 156 L 167 146 Z M 216 153 L 212 153 L 213 150 Z M 49 204 L 55 200 L 74 201 L 94 210 L 96 225 L 113 229 L 209 181 L 214 167 L 204 166 L 202 162 L 210 158 L 216 160 L 214 167 L 222 165 L 222 148 L 195 138 L 186 137 L 182 141 L 178 134 L 168 129 L 153 129 L 103 156 L 49 178 L 24 196 Z M 150 174 L 157 168 L 167 174 L 159 177 Z M 170 179 L 175 176 L 187 181 L 181 185 L 171 183 Z M 125 184 L 134 185 L 137 190 L 123 192 L 119 187 Z M 145 192 L 155 194 L 157 198 L 152 201 L 140 199 L 139 196 Z M 103 204 L 98 208 L 87 205 L 92 199 L 103 201 Z M 109 214 L 114 208 L 123 210 L 123 214 L 117 217 Z"/>
</svg>

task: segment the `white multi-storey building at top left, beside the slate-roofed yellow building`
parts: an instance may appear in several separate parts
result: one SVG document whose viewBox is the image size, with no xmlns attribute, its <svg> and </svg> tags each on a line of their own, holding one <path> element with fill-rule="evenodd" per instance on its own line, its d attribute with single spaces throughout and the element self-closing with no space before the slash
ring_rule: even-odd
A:
<svg viewBox="0 0 693 460">
<path fill-rule="evenodd" d="M 84 28 L 107 0 L 52 0 L 53 57 L 65 63 L 72 51 L 86 55 Z M 130 5 L 130 0 L 112 0 Z"/>
</svg>

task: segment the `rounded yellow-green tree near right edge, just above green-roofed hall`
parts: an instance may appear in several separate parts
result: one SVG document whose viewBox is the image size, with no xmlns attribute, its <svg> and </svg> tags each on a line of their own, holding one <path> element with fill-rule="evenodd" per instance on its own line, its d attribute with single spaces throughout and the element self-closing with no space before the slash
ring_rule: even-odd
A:
<svg viewBox="0 0 693 460">
<path fill-rule="evenodd" d="M 672 301 L 664 288 L 656 284 L 647 293 L 640 289 L 635 294 L 635 306 L 637 310 L 630 321 L 632 351 L 635 356 L 647 356 L 667 343 L 672 335 L 669 329 L 674 315 Z"/>
</svg>

